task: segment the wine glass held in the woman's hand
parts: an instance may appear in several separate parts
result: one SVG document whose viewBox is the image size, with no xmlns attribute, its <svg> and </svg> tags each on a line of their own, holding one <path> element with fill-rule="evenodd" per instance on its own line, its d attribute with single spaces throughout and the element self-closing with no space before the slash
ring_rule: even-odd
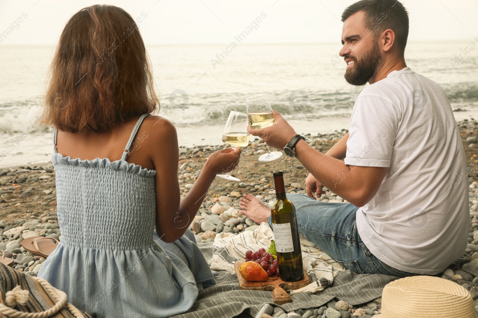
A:
<svg viewBox="0 0 478 318">
<path fill-rule="evenodd" d="M 232 149 L 245 147 L 249 144 L 249 132 L 247 131 L 248 117 L 245 113 L 231 112 L 222 134 L 222 141 L 229 144 Z M 229 173 L 216 174 L 217 177 L 232 181 L 240 181 Z"/>
</svg>

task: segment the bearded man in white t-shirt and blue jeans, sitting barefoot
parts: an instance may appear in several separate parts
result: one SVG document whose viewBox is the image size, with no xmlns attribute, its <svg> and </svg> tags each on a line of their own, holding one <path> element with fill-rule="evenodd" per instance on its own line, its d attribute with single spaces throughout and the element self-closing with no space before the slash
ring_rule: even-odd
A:
<svg viewBox="0 0 478 318">
<path fill-rule="evenodd" d="M 350 129 L 317 152 L 274 112 L 250 130 L 310 172 L 306 195 L 288 194 L 299 231 L 342 266 L 398 277 L 442 272 L 463 255 L 471 222 L 466 158 L 443 89 L 407 67 L 408 13 L 397 0 L 361 0 L 342 14 L 345 79 L 364 85 Z M 297 141 L 298 140 L 298 141 Z M 342 161 L 341 159 L 344 159 Z M 326 186 L 350 203 L 316 201 Z M 250 194 L 244 213 L 272 225 Z"/>
</svg>

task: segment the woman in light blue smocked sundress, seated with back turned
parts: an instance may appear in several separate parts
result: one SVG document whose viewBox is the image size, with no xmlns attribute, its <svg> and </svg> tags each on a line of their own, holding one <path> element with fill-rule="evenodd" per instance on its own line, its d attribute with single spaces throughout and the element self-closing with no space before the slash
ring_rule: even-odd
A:
<svg viewBox="0 0 478 318">
<path fill-rule="evenodd" d="M 98 318 L 181 314 L 215 284 L 188 226 L 215 175 L 237 166 L 240 149 L 211 154 L 180 202 L 176 131 L 149 115 L 158 104 L 131 16 L 109 5 L 73 15 L 43 114 L 55 126 L 62 240 L 38 276 Z"/>
</svg>

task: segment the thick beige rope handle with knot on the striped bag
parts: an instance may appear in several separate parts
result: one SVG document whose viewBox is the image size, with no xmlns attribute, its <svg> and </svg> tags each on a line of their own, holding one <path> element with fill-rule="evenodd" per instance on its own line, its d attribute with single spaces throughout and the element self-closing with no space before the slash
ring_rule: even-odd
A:
<svg viewBox="0 0 478 318">
<path fill-rule="evenodd" d="M 46 289 L 50 296 L 56 301 L 56 304 L 52 308 L 49 308 L 42 312 L 23 312 L 11 308 L 15 307 L 17 303 L 24 305 L 28 300 L 29 291 L 21 289 L 18 285 L 13 288 L 13 290 L 8 291 L 6 293 L 5 302 L 7 302 L 7 305 L 0 303 L 0 317 L 1 315 L 4 315 L 12 318 L 47 318 L 54 315 L 58 310 L 64 307 L 66 307 L 75 317 L 84 317 L 84 313 L 82 313 L 78 308 L 67 302 L 67 296 L 64 291 L 56 289 L 43 278 L 35 276 L 32 277 Z M 7 297 L 10 297 L 9 301 L 7 301 Z M 14 297 L 14 299 L 12 297 Z M 15 304 L 9 307 L 8 302 L 10 302 L 10 304 L 15 302 Z"/>
</svg>

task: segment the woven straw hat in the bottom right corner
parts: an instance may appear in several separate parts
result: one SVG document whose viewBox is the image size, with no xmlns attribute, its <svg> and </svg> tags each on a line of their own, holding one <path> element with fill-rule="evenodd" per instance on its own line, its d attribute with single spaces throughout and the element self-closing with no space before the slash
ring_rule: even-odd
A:
<svg viewBox="0 0 478 318">
<path fill-rule="evenodd" d="M 476 318 L 471 294 L 455 282 L 433 276 L 394 280 L 383 288 L 380 318 Z"/>
</svg>

